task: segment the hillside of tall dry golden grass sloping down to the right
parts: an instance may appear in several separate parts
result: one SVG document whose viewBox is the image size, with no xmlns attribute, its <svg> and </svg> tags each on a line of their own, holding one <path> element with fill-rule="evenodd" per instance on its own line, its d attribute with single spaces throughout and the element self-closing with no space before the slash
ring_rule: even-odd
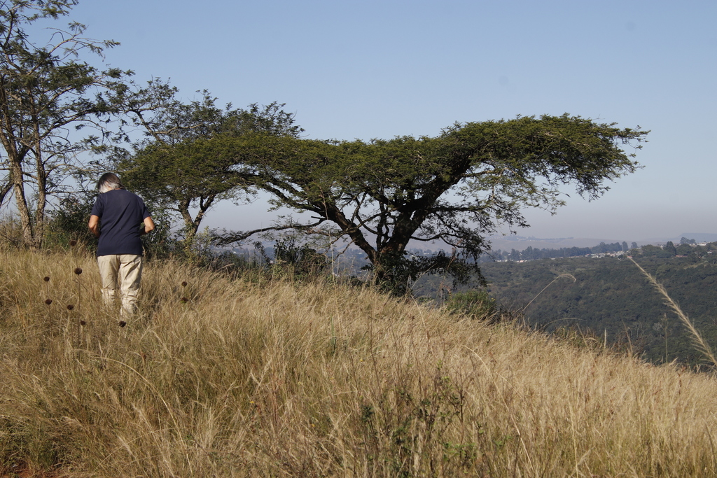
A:
<svg viewBox="0 0 717 478">
<path fill-rule="evenodd" d="M 711 374 L 321 282 L 153 262 L 120 327 L 85 254 L 0 276 L 4 476 L 717 474 Z"/>
</svg>

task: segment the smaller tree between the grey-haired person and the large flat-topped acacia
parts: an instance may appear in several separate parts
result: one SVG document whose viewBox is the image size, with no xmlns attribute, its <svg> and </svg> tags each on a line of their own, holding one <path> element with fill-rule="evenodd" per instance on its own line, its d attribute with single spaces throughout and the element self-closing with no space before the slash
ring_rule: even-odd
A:
<svg viewBox="0 0 717 478">
<path fill-rule="evenodd" d="M 296 137 L 303 130 L 276 102 L 244 110 L 217 106 L 206 90 L 201 100 L 189 103 L 177 99 L 177 93 L 167 82 L 153 80 L 114 98 L 126 105 L 128 122 L 146 136 L 130 150 L 115 151 L 113 159 L 130 188 L 153 206 L 181 216 L 191 242 L 217 201 L 250 193 L 247 173 L 229 148 L 232 138 L 247 133 Z"/>
</svg>

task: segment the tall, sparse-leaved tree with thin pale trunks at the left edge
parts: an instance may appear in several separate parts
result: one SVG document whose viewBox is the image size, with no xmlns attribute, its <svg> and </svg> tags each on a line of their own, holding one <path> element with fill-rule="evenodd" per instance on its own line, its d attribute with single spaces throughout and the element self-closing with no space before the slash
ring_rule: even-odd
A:
<svg viewBox="0 0 717 478">
<path fill-rule="evenodd" d="M 46 30 L 47 42 L 36 42 L 34 32 L 31 38 L 31 24 L 65 16 L 76 3 L 0 1 L 0 144 L 5 152 L 0 166 L 6 172 L 0 204 L 12 191 L 28 247 L 42 244 L 47 201 L 62 190 L 77 154 L 105 135 L 98 118 L 111 108 L 103 93 L 124 87 L 125 73 L 98 70 L 79 59 L 116 44 L 83 37 L 84 25 Z M 98 133 L 79 139 L 77 130 L 89 126 Z"/>
</svg>

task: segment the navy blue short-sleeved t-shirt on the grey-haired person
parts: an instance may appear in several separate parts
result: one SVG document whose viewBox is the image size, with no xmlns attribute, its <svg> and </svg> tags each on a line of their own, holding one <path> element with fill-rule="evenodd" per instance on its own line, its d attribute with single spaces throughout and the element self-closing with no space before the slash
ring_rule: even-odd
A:
<svg viewBox="0 0 717 478">
<path fill-rule="evenodd" d="M 90 214 L 98 216 L 102 221 L 98 256 L 142 255 L 139 226 L 150 214 L 139 196 L 125 189 L 107 191 L 98 196 Z"/>
</svg>

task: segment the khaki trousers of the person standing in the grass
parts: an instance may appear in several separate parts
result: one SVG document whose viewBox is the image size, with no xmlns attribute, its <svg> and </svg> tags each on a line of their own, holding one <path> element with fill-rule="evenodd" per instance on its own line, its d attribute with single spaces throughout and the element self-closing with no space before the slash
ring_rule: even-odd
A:
<svg viewBox="0 0 717 478">
<path fill-rule="evenodd" d="M 139 283 L 142 279 L 142 256 L 136 254 L 110 254 L 98 256 L 102 277 L 102 298 L 105 305 L 113 305 L 117 290 L 122 298 L 122 317 L 130 317 L 137 310 Z"/>
</svg>

